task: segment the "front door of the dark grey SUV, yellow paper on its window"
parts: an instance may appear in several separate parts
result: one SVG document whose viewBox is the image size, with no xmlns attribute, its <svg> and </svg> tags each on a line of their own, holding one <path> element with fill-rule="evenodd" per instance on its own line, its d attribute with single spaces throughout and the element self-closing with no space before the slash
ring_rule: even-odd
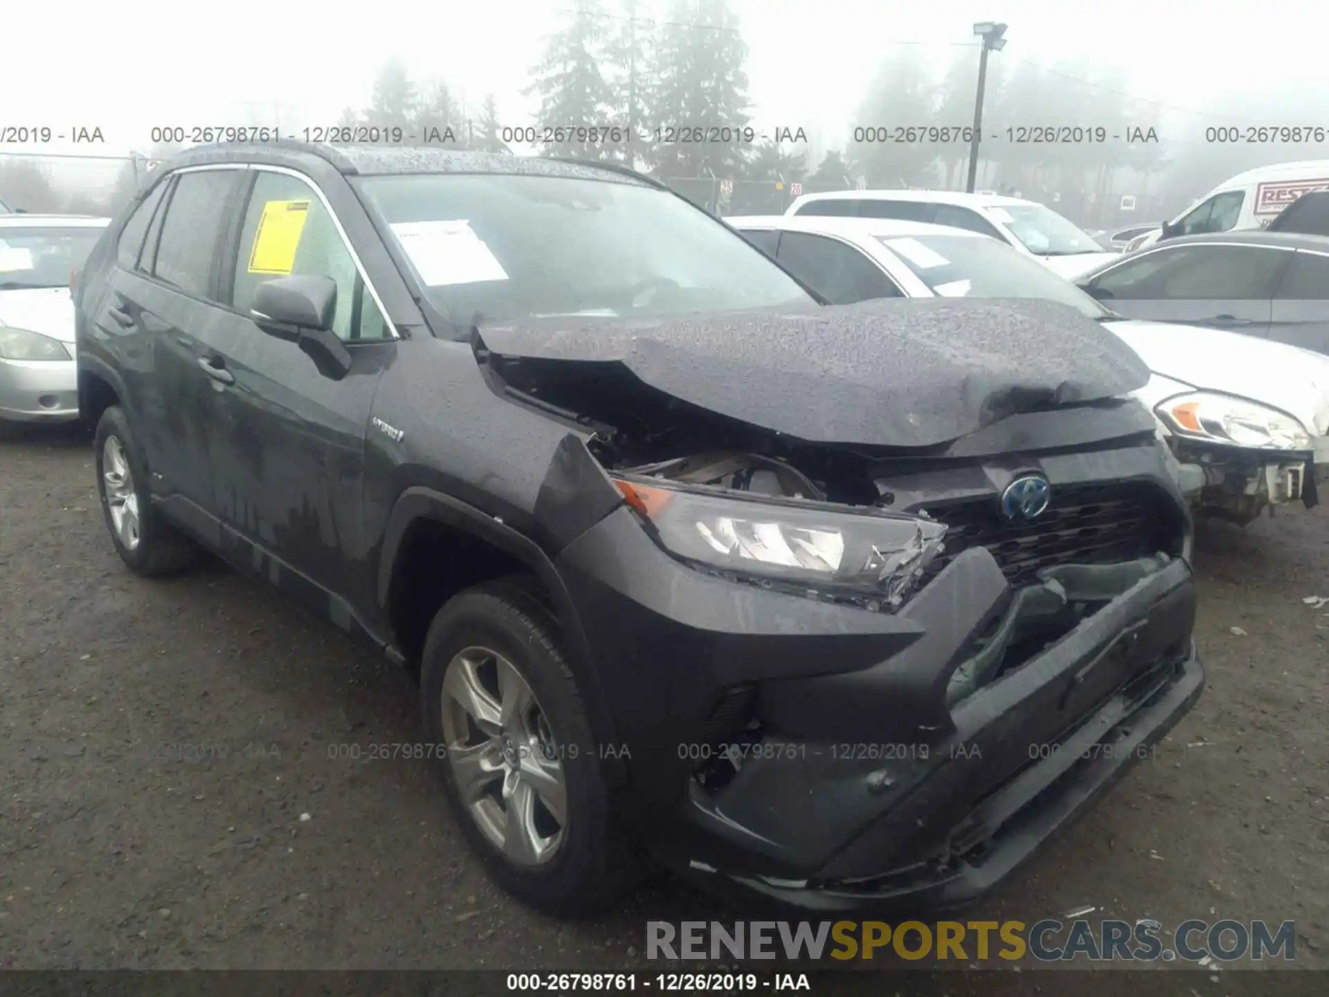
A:
<svg viewBox="0 0 1329 997">
<path fill-rule="evenodd" d="M 237 560 L 344 626 L 347 566 L 364 553 L 365 427 L 396 336 L 336 215 L 302 174 L 253 167 L 225 255 L 213 344 L 233 379 L 217 427 L 223 540 Z M 350 372 L 253 320 L 258 287 L 286 275 L 336 282 L 332 331 Z"/>
</svg>

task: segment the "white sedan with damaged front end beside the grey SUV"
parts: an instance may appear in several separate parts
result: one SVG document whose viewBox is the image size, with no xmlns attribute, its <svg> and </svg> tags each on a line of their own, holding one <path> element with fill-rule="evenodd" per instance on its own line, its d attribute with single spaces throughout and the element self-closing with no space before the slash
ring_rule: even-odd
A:
<svg viewBox="0 0 1329 997">
<path fill-rule="evenodd" d="M 1196 513 L 1245 525 L 1318 501 L 1329 480 L 1329 356 L 1235 332 L 1123 319 L 1003 243 L 921 222 L 728 218 L 832 304 L 869 298 L 1045 298 L 1099 320 L 1152 372 L 1154 412 Z"/>
</svg>

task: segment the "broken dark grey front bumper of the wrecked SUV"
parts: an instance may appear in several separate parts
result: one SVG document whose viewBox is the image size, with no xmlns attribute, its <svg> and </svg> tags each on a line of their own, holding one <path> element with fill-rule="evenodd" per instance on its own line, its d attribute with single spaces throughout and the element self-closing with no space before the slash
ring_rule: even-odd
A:
<svg viewBox="0 0 1329 997">
<path fill-rule="evenodd" d="M 974 899 L 1203 686 L 1184 558 L 1017 590 L 970 548 L 882 614 L 708 577 L 621 508 L 557 566 L 641 835 L 700 885 L 804 909 Z M 991 678 L 994 661 L 1013 663 Z M 732 744 L 736 771 L 712 779 Z"/>
</svg>

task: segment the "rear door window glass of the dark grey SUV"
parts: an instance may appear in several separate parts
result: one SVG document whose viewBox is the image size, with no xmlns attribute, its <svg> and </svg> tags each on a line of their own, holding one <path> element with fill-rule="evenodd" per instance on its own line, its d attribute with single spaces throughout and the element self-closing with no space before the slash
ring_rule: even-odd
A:
<svg viewBox="0 0 1329 997">
<path fill-rule="evenodd" d="M 210 296 L 217 243 L 226 227 L 230 195 L 242 175 L 241 170 L 178 175 L 157 241 L 154 277 L 195 298 Z"/>
</svg>

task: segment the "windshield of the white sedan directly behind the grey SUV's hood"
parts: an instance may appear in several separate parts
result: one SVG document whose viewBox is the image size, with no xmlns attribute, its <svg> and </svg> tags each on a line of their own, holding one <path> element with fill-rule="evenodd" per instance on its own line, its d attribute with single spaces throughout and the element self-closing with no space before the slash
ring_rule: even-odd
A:
<svg viewBox="0 0 1329 997">
<path fill-rule="evenodd" d="M 1043 298 L 1091 319 L 1112 312 L 1035 259 L 978 235 L 878 235 L 941 298 Z"/>
</svg>

